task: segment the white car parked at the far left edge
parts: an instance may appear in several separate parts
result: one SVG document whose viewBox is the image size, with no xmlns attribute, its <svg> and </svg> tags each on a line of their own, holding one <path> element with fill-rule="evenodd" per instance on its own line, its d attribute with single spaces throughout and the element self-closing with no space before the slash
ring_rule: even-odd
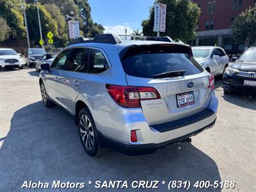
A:
<svg viewBox="0 0 256 192">
<path fill-rule="evenodd" d="M 13 49 L 0 49 L 0 70 L 1 68 L 20 68 L 22 69 L 22 59 L 20 53 Z"/>
</svg>

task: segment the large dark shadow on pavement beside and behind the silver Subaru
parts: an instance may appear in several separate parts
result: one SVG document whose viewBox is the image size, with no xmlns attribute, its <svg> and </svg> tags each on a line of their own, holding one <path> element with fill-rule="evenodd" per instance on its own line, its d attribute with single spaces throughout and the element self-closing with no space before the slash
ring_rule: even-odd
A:
<svg viewBox="0 0 256 192">
<path fill-rule="evenodd" d="M 88 156 L 74 121 L 60 108 L 35 102 L 13 114 L 10 132 L 0 153 L 0 186 L 17 191 L 24 180 L 86 182 L 88 180 L 221 180 L 211 157 L 191 144 L 170 145 L 147 156 L 125 156 L 115 151 Z M 168 186 L 159 184 L 160 191 Z M 161 190 L 162 189 L 162 190 Z M 118 190 L 118 189 L 117 189 Z M 208 189 L 221 191 L 220 189 Z M 50 190 L 51 191 L 51 190 Z M 189 191 L 196 191 L 191 189 Z"/>
</svg>

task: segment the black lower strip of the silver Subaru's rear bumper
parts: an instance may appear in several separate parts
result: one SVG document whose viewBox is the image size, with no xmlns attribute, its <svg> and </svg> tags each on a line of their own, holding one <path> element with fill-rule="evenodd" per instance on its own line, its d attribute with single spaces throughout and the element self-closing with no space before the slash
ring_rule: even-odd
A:
<svg viewBox="0 0 256 192">
<path fill-rule="evenodd" d="M 173 140 L 165 141 L 163 143 L 148 143 L 148 144 L 142 144 L 142 145 L 127 145 L 124 143 L 120 143 L 115 140 L 111 140 L 109 138 L 106 138 L 106 136 L 103 136 L 100 133 L 100 138 L 102 141 L 102 144 L 106 147 L 112 148 L 118 152 L 121 152 L 122 154 L 126 154 L 129 156 L 138 156 L 143 154 L 150 154 L 155 152 L 158 148 L 166 147 L 166 145 L 172 145 L 175 143 L 182 143 L 184 141 L 187 141 L 188 138 L 191 138 L 192 136 L 195 136 L 196 134 L 204 131 L 205 129 L 209 129 L 213 127 L 213 125 L 216 122 L 216 118 L 211 124 L 206 125 L 205 127 L 202 127 L 196 131 L 190 132 L 189 134 L 186 134 L 184 136 L 180 136 L 179 138 L 175 138 Z"/>
</svg>

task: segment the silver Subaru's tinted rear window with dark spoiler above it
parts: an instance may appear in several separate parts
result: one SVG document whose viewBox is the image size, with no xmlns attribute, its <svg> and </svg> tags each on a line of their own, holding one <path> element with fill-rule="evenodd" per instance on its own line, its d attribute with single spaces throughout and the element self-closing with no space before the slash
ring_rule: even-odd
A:
<svg viewBox="0 0 256 192">
<path fill-rule="evenodd" d="M 185 70 L 184 76 L 204 69 L 191 56 L 191 49 L 181 45 L 151 45 L 128 49 L 122 58 L 129 76 L 152 78 L 157 74 Z"/>
</svg>

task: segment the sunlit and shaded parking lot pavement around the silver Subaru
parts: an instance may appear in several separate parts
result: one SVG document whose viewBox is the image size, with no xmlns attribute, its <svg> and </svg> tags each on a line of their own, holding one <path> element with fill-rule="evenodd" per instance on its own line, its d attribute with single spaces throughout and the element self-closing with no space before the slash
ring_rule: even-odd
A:
<svg viewBox="0 0 256 192">
<path fill-rule="evenodd" d="M 147 156 L 109 151 L 93 158 L 84 152 L 72 118 L 58 107 L 44 108 L 35 68 L 2 70 L 0 191 L 20 191 L 24 180 L 235 180 L 236 188 L 223 191 L 256 191 L 256 97 L 223 95 L 220 79 L 215 87 L 216 124 L 191 144 Z"/>
</svg>

